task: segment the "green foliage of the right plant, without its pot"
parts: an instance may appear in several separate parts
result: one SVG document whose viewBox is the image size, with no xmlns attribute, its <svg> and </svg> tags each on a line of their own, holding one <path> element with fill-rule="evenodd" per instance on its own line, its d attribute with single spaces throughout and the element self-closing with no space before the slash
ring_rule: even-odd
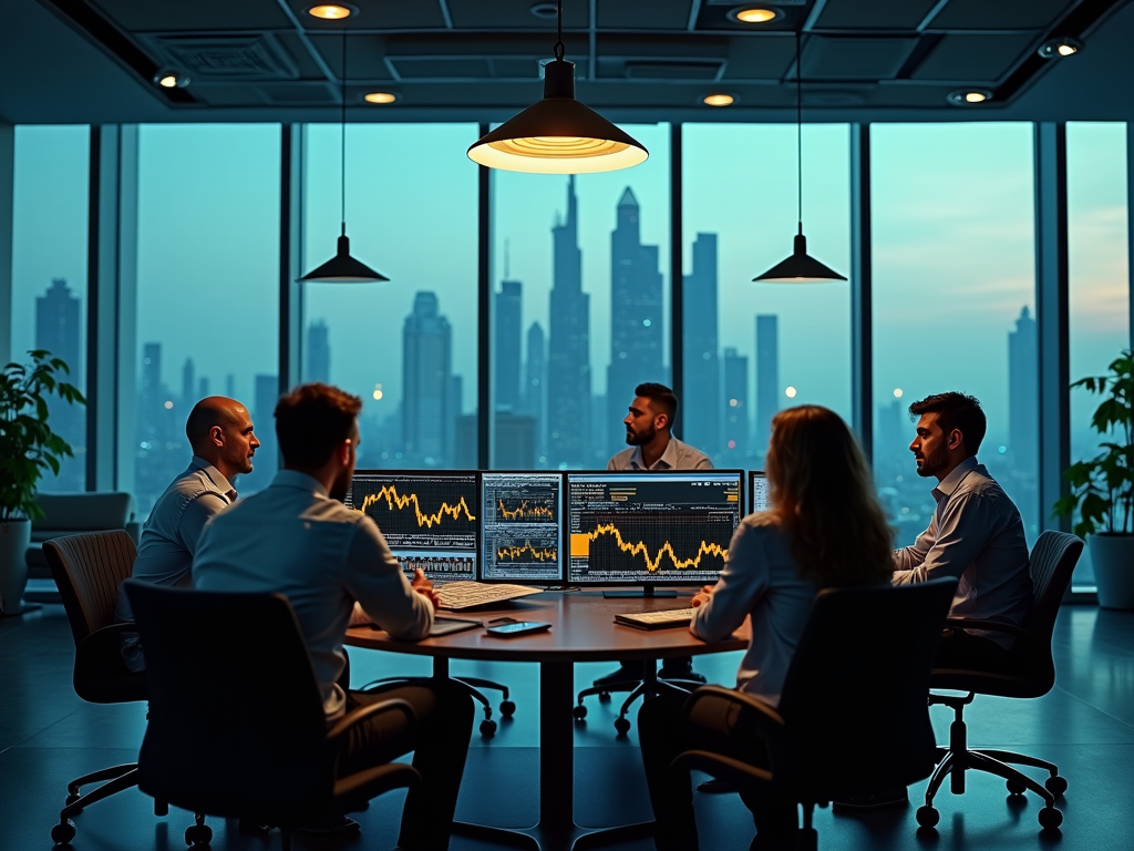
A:
<svg viewBox="0 0 1134 851">
<path fill-rule="evenodd" d="M 1108 368 L 1108 376 L 1092 376 L 1072 385 L 1102 396 L 1091 418 L 1091 428 L 1102 438 L 1101 452 L 1093 458 L 1077 461 L 1064 472 L 1070 494 L 1055 505 L 1056 514 L 1069 516 L 1078 509 L 1075 534 L 1134 532 L 1134 376 L 1131 349 Z"/>
</svg>

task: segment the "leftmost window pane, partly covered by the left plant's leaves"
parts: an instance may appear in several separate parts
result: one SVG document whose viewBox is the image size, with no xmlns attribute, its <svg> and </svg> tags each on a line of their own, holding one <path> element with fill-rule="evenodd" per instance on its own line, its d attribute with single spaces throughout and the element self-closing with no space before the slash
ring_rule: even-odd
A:
<svg viewBox="0 0 1134 851">
<path fill-rule="evenodd" d="M 17 127 L 14 188 L 11 356 L 45 348 L 86 393 L 86 247 L 91 130 Z M 48 423 L 75 453 L 40 490 L 86 489 L 86 408 L 58 397 Z"/>
</svg>

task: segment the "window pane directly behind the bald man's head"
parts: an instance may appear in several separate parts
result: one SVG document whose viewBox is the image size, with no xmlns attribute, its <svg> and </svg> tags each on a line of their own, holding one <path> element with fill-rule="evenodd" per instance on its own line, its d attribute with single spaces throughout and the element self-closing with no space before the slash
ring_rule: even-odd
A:
<svg viewBox="0 0 1134 851">
<path fill-rule="evenodd" d="M 234 482 L 277 465 L 279 125 L 138 128 L 134 492 L 144 517 L 189 462 L 185 420 L 203 396 L 239 399 L 262 448 Z"/>
</svg>

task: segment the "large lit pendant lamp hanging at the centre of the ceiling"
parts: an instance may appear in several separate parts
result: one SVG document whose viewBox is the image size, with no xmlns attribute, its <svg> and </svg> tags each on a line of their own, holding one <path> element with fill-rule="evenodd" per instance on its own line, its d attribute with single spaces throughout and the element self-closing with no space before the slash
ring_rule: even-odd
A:
<svg viewBox="0 0 1134 851">
<path fill-rule="evenodd" d="M 575 100 L 575 64 L 564 60 L 564 5 L 559 40 L 543 66 L 543 100 L 485 134 L 468 159 L 489 168 L 543 175 L 616 171 L 645 162 L 650 152 L 627 133 Z"/>
</svg>

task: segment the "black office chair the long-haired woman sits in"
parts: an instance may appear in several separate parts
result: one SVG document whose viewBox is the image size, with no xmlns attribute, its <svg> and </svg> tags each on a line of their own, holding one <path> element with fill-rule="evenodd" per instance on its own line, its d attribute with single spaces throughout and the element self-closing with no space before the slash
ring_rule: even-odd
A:
<svg viewBox="0 0 1134 851">
<path fill-rule="evenodd" d="M 686 723 L 761 735 L 769 768 L 691 750 L 674 760 L 674 770 L 702 770 L 803 804 L 801 851 L 818 846 L 815 804 L 928 777 L 936 747 L 925 696 L 956 584 L 941 579 L 820 591 L 777 709 L 718 685 L 697 689 L 685 705 Z"/>
</svg>

